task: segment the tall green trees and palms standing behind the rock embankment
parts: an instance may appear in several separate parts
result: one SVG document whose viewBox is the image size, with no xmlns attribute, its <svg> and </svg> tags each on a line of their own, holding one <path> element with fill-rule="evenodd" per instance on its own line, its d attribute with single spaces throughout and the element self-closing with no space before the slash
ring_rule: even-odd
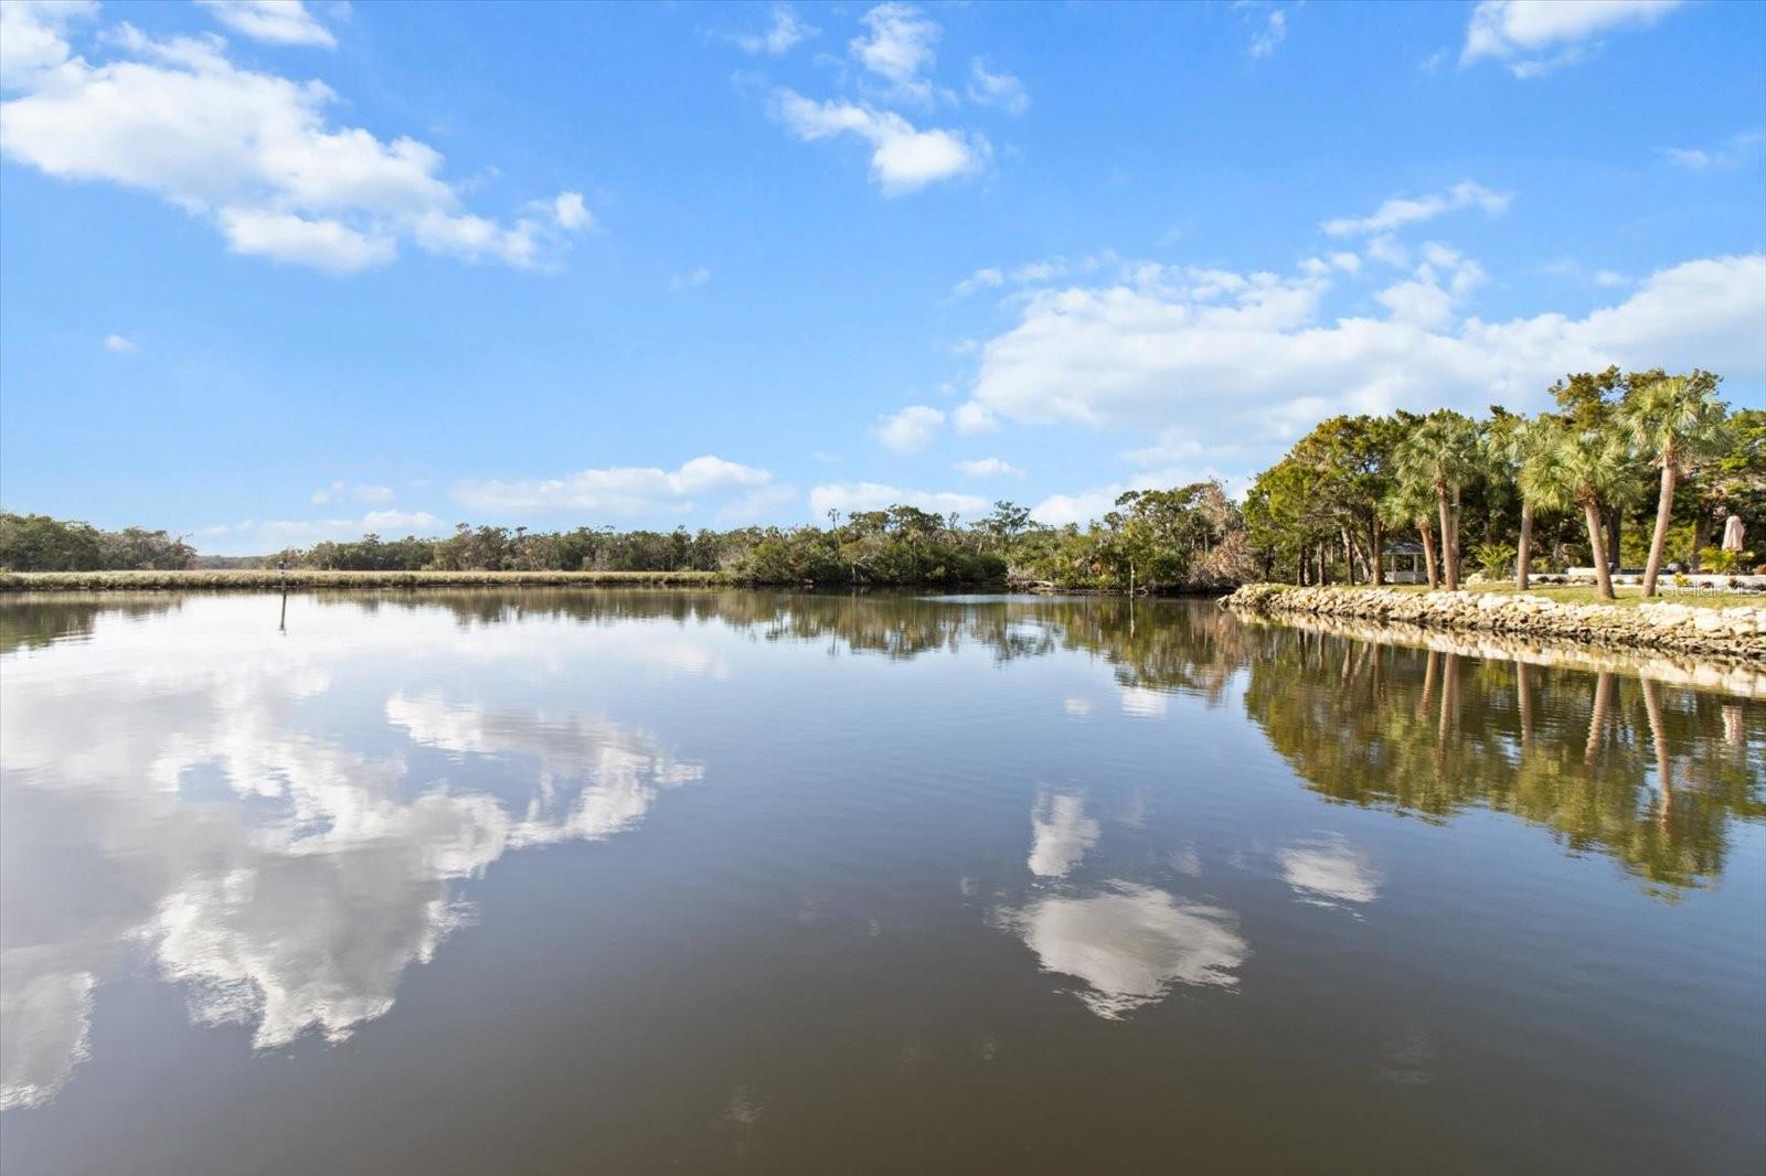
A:
<svg viewBox="0 0 1766 1176">
<path fill-rule="evenodd" d="M 1748 567 L 1722 551 L 1724 521 L 1741 517 L 1755 547 L 1766 531 L 1766 411 L 1729 411 L 1718 376 L 1665 371 L 1566 376 L 1556 411 L 1492 406 L 1473 418 L 1332 417 L 1270 470 L 1245 500 L 1250 542 L 1270 579 L 1379 583 L 1393 537 L 1420 544 L 1430 586 L 1457 588 L 1468 567 L 1515 577 L 1635 567 L 1646 595 L 1672 560 L 1688 572 Z"/>
</svg>

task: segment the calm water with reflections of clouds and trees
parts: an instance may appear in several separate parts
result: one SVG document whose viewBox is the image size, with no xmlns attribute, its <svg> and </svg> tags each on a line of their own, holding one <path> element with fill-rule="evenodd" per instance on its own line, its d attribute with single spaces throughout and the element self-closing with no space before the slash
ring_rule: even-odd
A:
<svg viewBox="0 0 1766 1176">
<path fill-rule="evenodd" d="M 7 1172 L 1766 1169 L 1766 703 L 1672 673 L 14 600 L 0 765 Z"/>
</svg>

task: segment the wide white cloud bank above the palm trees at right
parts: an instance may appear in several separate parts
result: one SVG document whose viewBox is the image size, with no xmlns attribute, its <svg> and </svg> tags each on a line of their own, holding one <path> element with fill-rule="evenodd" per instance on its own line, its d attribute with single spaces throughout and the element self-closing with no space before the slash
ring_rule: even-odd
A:
<svg viewBox="0 0 1766 1176">
<path fill-rule="evenodd" d="M 1505 321 L 1459 318 L 1482 268 L 1445 245 L 1423 254 L 1383 291 L 1385 318 L 1326 320 L 1330 279 L 1303 272 L 1167 268 L 1150 281 L 1143 267 L 1139 283 L 1037 291 L 984 344 L 959 420 L 1143 433 L 1206 422 L 1199 441 L 1217 447 L 1291 438 L 1335 411 L 1528 408 L 1565 373 L 1607 364 L 1766 380 L 1766 254 L 1658 270 L 1582 318 Z M 1038 517 L 1091 517 L 1091 505 L 1051 500 Z"/>
</svg>

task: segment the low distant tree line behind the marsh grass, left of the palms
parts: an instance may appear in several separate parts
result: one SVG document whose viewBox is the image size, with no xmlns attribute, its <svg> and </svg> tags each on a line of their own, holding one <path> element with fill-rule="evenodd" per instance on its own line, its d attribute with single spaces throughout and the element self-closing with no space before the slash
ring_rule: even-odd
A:
<svg viewBox="0 0 1766 1176">
<path fill-rule="evenodd" d="M 113 542 L 131 537 L 129 544 Z M 152 542 L 150 542 L 152 540 Z M 1176 592 L 1238 583 L 1257 570 L 1238 505 L 1219 482 L 1121 494 L 1084 528 L 1045 526 L 1030 509 L 994 503 L 964 523 L 895 505 L 830 516 L 826 526 L 728 531 L 616 531 L 461 523 L 442 539 L 381 539 L 290 547 L 263 558 L 198 556 L 164 531 L 99 531 L 46 516 L 0 514 L 0 567 L 26 570 L 253 565 L 323 570 L 722 572 L 756 584 L 998 584 Z"/>
</svg>

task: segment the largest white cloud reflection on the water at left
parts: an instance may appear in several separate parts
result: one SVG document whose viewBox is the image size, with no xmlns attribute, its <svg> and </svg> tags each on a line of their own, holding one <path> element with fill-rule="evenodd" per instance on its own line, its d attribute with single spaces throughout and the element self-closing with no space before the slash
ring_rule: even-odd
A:
<svg viewBox="0 0 1766 1176">
<path fill-rule="evenodd" d="M 339 609 L 325 632 L 281 641 L 217 618 L 238 607 L 261 611 L 261 599 L 205 602 L 198 623 L 101 620 L 104 639 L 7 659 L 7 819 L 58 830 L 62 856 L 19 837 L 0 858 L 0 1107 L 62 1089 L 90 1049 L 94 989 L 125 945 L 184 987 L 200 1022 L 245 1024 L 258 1049 L 311 1031 L 337 1042 L 383 1015 L 404 971 L 466 922 L 457 879 L 510 849 L 629 830 L 662 789 L 703 777 L 652 735 L 597 715 L 440 690 L 387 697 L 387 729 L 408 743 L 353 740 L 383 754 L 309 729 L 346 657 L 351 669 L 411 650 L 457 664 L 470 648 L 539 669 L 572 653 L 606 660 L 611 630 L 468 637 L 438 609 L 336 623 Z M 600 645 L 560 648 L 565 632 Z M 528 659 L 530 645 L 549 648 Z M 507 761 L 521 784 L 510 796 L 419 779 L 411 745 L 472 758 L 466 780 Z M 42 901 L 44 871 L 101 881 L 62 909 Z"/>
</svg>

